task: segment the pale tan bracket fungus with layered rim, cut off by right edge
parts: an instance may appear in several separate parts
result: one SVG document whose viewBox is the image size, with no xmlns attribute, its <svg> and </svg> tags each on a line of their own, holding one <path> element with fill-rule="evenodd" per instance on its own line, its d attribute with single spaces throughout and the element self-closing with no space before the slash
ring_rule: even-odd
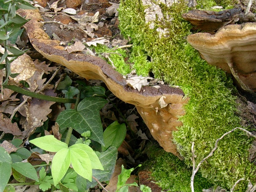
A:
<svg viewBox="0 0 256 192">
<path fill-rule="evenodd" d="M 231 73 L 242 89 L 256 91 L 256 23 L 227 25 L 214 35 L 196 33 L 187 40 L 207 63 Z"/>
</svg>

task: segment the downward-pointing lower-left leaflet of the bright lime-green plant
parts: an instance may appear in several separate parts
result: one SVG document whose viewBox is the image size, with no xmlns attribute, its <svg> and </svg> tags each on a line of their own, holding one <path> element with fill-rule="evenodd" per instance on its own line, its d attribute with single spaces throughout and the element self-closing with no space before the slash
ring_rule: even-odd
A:
<svg viewBox="0 0 256 192">
<path fill-rule="evenodd" d="M 52 177 L 54 186 L 56 186 L 64 177 L 70 163 L 71 155 L 68 148 L 62 148 L 54 155 L 52 159 Z"/>
</svg>

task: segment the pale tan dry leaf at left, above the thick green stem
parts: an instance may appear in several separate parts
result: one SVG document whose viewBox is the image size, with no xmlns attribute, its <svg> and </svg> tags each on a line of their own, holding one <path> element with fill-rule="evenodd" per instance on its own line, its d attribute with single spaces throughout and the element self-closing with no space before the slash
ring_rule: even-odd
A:
<svg viewBox="0 0 256 192">
<path fill-rule="evenodd" d="M 15 82 L 20 82 L 21 80 L 27 80 L 34 75 L 36 69 L 31 57 L 24 53 L 12 62 L 11 71 L 12 73 L 19 74 L 14 80 Z"/>
</svg>

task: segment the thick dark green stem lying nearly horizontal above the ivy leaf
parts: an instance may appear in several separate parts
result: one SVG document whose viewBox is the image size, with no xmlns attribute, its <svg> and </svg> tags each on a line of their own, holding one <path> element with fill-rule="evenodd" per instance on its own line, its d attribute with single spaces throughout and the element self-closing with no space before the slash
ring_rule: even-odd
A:
<svg viewBox="0 0 256 192">
<path fill-rule="evenodd" d="M 66 99 L 66 98 L 52 97 L 49 95 L 43 95 L 43 94 L 39 94 L 39 93 L 35 93 L 32 91 L 22 89 L 21 87 L 18 87 L 15 85 L 4 85 L 3 87 L 13 90 L 13 91 L 16 91 L 18 93 L 21 93 L 23 95 L 34 97 L 37 99 L 43 99 L 46 101 L 53 101 L 53 102 L 59 102 L 59 103 L 75 103 L 76 102 L 76 99 Z"/>
</svg>

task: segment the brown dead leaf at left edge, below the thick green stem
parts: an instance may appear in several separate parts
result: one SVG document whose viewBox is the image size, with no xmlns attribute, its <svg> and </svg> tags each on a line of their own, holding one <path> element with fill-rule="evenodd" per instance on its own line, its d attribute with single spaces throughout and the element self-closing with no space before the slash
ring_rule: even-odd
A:
<svg viewBox="0 0 256 192">
<path fill-rule="evenodd" d="M 0 131 L 11 133 L 12 135 L 22 135 L 17 123 L 12 123 L 10 118 L 4 118 L 4 114 L 0 113 Z"/>
</svg>

